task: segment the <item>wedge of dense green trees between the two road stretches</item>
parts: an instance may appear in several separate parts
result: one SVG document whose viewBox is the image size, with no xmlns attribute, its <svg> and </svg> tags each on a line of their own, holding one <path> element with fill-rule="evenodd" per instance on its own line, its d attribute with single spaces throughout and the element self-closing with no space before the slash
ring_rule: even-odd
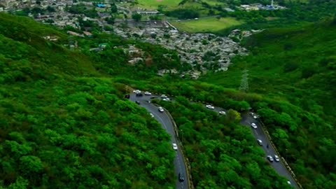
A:
<svg viewBox="0 0 336 189">
<path fill-rule="evenodd" d="M 176 120 L 195 188 L 291 188 L 265 161 L 237 111 L 219 116 L 184 97 L 160 102 Z"/>
</svg>

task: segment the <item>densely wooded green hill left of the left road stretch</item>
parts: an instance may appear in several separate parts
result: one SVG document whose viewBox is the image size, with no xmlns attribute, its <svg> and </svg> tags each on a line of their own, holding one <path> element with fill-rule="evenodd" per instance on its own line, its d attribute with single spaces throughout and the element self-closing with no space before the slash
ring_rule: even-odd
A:
<svg viewBox="0 0 336 189">
<path fill-rule="evenodd" d="M 0 14 L 0 188 L 174 188 L 169 136 L 66 40 Z"/>
</svg>

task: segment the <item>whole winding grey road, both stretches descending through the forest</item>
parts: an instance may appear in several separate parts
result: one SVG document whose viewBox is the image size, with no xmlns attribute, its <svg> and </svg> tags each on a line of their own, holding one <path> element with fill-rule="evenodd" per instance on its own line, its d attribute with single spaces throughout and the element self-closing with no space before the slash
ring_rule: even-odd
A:
<svg viewBox="0 0 336 189">
<path fill-rule="evenodd" d="M 133 102 L 140 102 L 140 106 L 144 107 L 145 109 L 147 109 L 147 111 L 149 111 L 150 113 L 153 113 L 153 116 L 155 117 L 155 119 L 157 119 L 159 121 L 159 123 L 162 125 L 162 127 L 170 134 L 170 136 L 172 137 L 172 143 L 176 143 L 178 146 L 180 145 L 178 140 L 176 140 L 176 135 L 174 132 L 174 125 L 172 123 L 172 120 L 170 120 L 169 116 L 167 115 L 166 112 L 159 112 L 158 111 L 158 107 L 148 103 L 148 101 L 151 101 L 151 98 L 153 97 L 158 97 L 160 98 L 160 96 L 158 95 L 144 95 L 142 97 L 137 97 L 136 94 L 130 94 L 130 100 Z M 170 98 L 170 97 L 169 97 Z M 205 105 L 204 105 L 205 107 Z M 218 107 L 214 107 L 213 111 L 219 112 L 219 111 L 225 111 L 224 109 L 218 108 Z M 241 115 L 241 125 L 246 125 L 248 127 L 251 128 L 251 131 L 253 132 L 253 136 L 255 137 L 255 142 L 257 139 L 262 140 L 263 145 L 260 146 L 262 148 L 263 151 L 265 151 L 266 155 L 272 155 L 272 157 L 274 155 L 278 155 L 279 157 L 281 157 L 279 154 L 276 154 L 276 151 L 274 150 L 273 146 L 270 145 L 269 139 L 267 137 L 267 135 L 265 134 L 264 130 L 262 130 L 262 125 L 261 123 L 254 119 L 253 116 L 249 115 L 248 113 L 244 113 Z M 251 127 L 251 123 L 255 123 L 258 127 L 256 129 L 253 129 Z M 268 148 L 266 147 L 268 144 Z M 179 189 L 187 189 L 188 188 L 188 177 L 187 177 L 187 170 L 186 170 L 186 163 L 183 162 L 183 153 L 181 153 L 181 148 L 179 146 L 178 151 L 176 151 L 176 158 L 174 160 L 174 165 L 175 165 L 175 172 L 176 172 L 176 176 L 179 175 L 179 173 L 182 173 L 185 181 L 183 182 L 179 182 L 179 180 L 176 181 L 176 188 Z M 265 155 L 265 160 L 267 160 Z M 270 165 L 275 169 L 275 171 L 285 177 L 286 179 L 288 179 L 288 181 L 290 181 L 291 186 L 293 186 L 294 188 L 299 188 L 297 186 L 297 183 L 295 182 L 295 180 L 293 179 L 293 176 L 291 176 L 291 174 L 288 172 L 288 169 L 286 169 L 286 166 L 283 165 L 283 162 L 270 162 Z"/>
</svg>

